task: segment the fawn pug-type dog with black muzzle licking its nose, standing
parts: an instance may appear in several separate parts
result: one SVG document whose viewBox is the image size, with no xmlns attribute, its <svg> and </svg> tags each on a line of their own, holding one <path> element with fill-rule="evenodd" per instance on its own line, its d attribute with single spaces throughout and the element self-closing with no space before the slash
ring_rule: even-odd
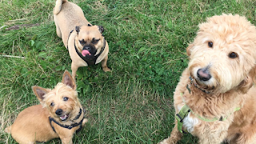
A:
<svg viewBox="0 0 256 144">
<path fill-rule="evenodd" d="M 56 32 L 72 60 L 72 78 L 75 80 L 78 67 L 90 66 L 102 62 L 102 70 L 110 71 L 106 66 L 109 46 L 102 35 L 102 26 L 92 26 L 82 12 L 82 9 L 66 0 L 57 0 L 54 7 L 54 22 Z"/>
</svg>

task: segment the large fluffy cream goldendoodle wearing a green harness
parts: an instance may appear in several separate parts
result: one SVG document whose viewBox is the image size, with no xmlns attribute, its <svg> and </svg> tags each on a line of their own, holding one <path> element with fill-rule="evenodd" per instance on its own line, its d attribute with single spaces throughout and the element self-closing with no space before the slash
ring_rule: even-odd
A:
<svg viewBox="0 0 256 144">
<path fill-rule="evenodd" d="M 188 68 L 174 92 L 175 126 L 201 144 L 256 143 L 256 30 L 246 18 L 222 14 L 199 25 L 187 48 Z"/>
</svg>

